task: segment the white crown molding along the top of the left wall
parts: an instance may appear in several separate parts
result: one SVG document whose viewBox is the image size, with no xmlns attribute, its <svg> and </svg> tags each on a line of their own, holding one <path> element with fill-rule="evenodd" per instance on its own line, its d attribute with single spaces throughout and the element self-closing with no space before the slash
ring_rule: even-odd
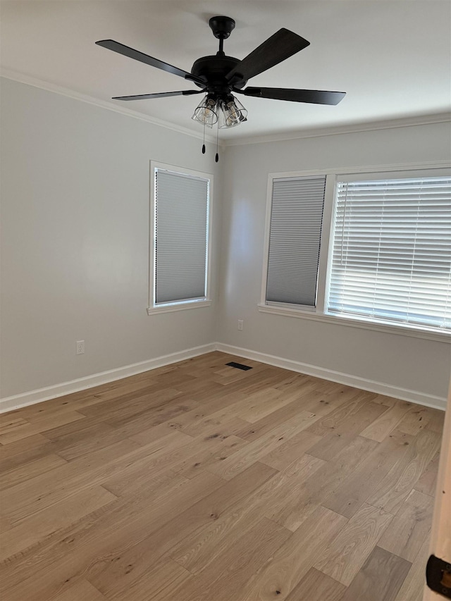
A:
<svg viewBox="0 0 451 601">
<path fill-rule="evenodd" d="M 178 132 L 181 134 L 185 134 L 191 137 L 195 137 L 197 140 L 203 140 L 202 132 L 194 132 L 189 130 L 188 128 L 183 128 L 180 125 L 174 125 L 169 121 L 165 121 L 163 119 L 158 119 L 156 117 L 151 117 L 149 115 L 144 115 L 144 113 L 139 113 L 138 111 L 132 111 L 131 109 L 125 109 L 123 106 L 118 106 L 113 102 L 107 100 L 100 100 L 98 98 L 94 98 L 92 96 L 88 96 L 87 94 L 80 94 L 80 92 L 75 92 L 73 89 L 69 89 L 67 87 L 62 87 L 60 85 L 55 85 L 44 80 L 39 80 L 36 78 L 30 77 L 30 75 L 25 75 L 24 73 L 18 73 L 17 71 L 9 70 L 9 69 L 0 69 L 0 77 L 13 80 L 19 83 L 23 83 L 26 85 L 31 85 L 33 87 L 39 87 L 41 89 L 47 90 L 47 92 L 54 92 L 54 94 L 60 94 L 61 96 L 66 96 L 68 98 L 72 98 L 74 100 L 80 100 L 82 102 L 87 102 L 87 104 L 93 104 L 94 106 L 99 106 L 101 109 L 107 109 L 108 111 L 114 111 L 115 113 L 121 113 L 121 115 L 126 115 L 128 117 L 132 117 L 135 119 L 140 119 L 141 121 L 146 121 L 147 123 L 152 123 L 152 125 L 158 125 L 161 128 L 166 128 L 167 130 L 172 130 L 174 132 Z M 210 142 L 211 144 L 216 144 L 216 136 L 205 134 L 206 142 Z M 220 145 L 221 142 L 220 142 Z"/>
</svg>

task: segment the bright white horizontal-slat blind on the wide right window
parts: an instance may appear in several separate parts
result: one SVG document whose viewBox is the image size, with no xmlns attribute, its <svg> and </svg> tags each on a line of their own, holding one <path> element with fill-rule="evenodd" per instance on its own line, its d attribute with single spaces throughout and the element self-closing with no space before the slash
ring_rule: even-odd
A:
<svg viewBox="0 0 451 601">
<path fill-rule="evenodd" d="M 338 182 L 327 310 L 451 328 L 451 178 Z"/>
</svg>

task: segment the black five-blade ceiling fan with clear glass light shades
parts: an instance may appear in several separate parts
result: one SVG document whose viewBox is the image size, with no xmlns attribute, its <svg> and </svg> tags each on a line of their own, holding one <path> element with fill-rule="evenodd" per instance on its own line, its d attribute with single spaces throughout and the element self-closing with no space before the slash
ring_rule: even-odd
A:
<svg viewBox="0 0 451 601">
<path fill-rule="evenodd" d="M 286 58 L 309 46 L 310 42 L 290 30 L 282 28 L 240 61 L 233 56 L 227 56 L 223 51 L 224 39 L 227 39 L 235 28 L 235 21 L 230 17 L 217 16 L 209 20 L 209 26 L 214 37 L 219 39 L 218 52 L 214 56 L 198 58 L 197 61 L 194 61 L 190 73 L 120 42 L 115 42 L 113 39 L 101 39 L 96 42 L 99 46 L 134 58 L 135 61 L 178 75 L 201 88 L 199 90 L 184 89 L 179 92 L 118 96 L 113 100 L 146 100 L 203 93 L 205 94 L 204 99 L 195 109 L 192 118 L 207 127 L 218 123 L 218 128 L 231 128 L 247 120 L 247 110 L 233 96 L 232 92 L 250 97 L 311 104 L 338 104 L 345 97 L 345 92 L 326 92 L 316 89 L 245 87 L 247 80 L 285 61 Z"/>
</svg>

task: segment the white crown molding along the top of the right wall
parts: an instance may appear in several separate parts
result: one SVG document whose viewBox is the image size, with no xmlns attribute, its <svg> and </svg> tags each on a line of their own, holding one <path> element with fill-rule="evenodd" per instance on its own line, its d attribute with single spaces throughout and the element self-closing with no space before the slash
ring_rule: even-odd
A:
<svg viewBox="0 0 451 601">
<path fill-rule="evenodd" d="M 287 140 L 301 140 L 309 137 L 323 137 L 330 135 L 351 134 L 358 132 L 369 132 L 374 130 L 388 130 L 395 128 L 408 128 L 412 125 L 431 125 L 432 123 L 451 123 L 451 113 L 434 113 L 431 115 L 418 115 L 414 117 L 403 117 L 399 119 L 388 119 L 380 121 L 366 121 L 363 123 L 350 123 L 328 128 L 312 128 L 269 134 L 264 136 L 247 136 L 223 140 L 225 147 L 241 146 L 245 144 L 264 144 L 266 142 L 285 142 Z"/>
</svg>

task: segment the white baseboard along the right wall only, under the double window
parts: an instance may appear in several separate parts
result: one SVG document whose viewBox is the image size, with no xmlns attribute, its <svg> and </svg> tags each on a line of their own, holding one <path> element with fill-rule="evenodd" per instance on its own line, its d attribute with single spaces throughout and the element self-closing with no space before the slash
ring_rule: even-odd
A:
<svg viewBox="0 0 451 601">
<path fill-rule="evenodd" d="M 315 376 L 316 378 L 330 380 L 332 382 L 337 382 L 338 384 L 345 384 L 347 386 L 361 388 L 362 390 L 368 390 L 369 392 L 376 392 L 378 395 L 395 397 L 404 401 L 426 405 L 426 407 L 433 407 L 433 409 L 446 409 L 447 399 L 445 397 L 425 395 L 424 392 L 399 388 L 390 384 L 375 382 L 373 380 L 367 380 L 366 378 L 359 378 L 358 376 L 351 376 L 349 373 L 341 373 L 340 371 L 333 371 L 331 369 L 301 363 L 300 361 L 292 361 L 292 359 L 283 359 L 283 357 L 275 357 L 274 355 L 242 349 L 240 347 L 233 347 L 232 345 L 223 345 L 221 342 L 216 343 L 216 350 L 237 355 L 238 357 L 244 357 L 245 359 L 261 361 L 261 363 L 266 363 L 275 367 L 299 371 L 300 373 L 306 373 L 307 376 Z"/>
</svg>

